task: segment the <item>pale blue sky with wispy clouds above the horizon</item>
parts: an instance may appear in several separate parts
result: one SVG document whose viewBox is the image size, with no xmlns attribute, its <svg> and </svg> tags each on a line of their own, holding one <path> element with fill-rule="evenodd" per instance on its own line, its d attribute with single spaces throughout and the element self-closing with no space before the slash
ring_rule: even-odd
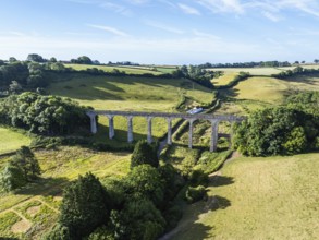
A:
<svg viewBox="0 0 319 240">
<path fill-rule="evenodd" d="M 319 59 L 318 0 L 0 0 L 0 59 Z"/>
</svg>

